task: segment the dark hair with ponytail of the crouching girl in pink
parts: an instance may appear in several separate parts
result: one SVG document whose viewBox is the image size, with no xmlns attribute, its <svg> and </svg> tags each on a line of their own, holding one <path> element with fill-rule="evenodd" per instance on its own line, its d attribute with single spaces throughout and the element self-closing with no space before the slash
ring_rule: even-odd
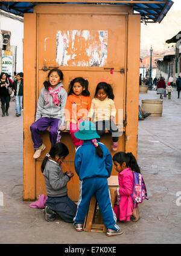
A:
<svg viewBox="0 0 181 256">
<path fill-rule="evenodd" d="M 140 173 L 138 163 L 136 162 L 136 159 L 132 153 L 125 153 L 120 151 L 113 156 L 113 161 L 118 162 L 119 165 L 122 165 L 122 163 L 125 162 L 126 166 L 131 168 L 132 171 Z"/>
</svg>

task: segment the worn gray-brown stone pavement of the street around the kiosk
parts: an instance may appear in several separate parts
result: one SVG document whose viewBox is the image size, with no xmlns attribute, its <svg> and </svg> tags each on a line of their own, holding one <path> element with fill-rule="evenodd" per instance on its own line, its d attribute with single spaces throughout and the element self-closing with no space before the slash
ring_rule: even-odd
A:
<svg viewBox="0 0 181 256">
<path fill-rule="evenodd" d="M 15 117 L 15 103 L 10 102 L 10 116 L 0 116 L 0 191 L 4 195 L 4 206 L 0 196 L 0 243 L 180 243 L 181 197 L 176 193 L 181 191 L 181 99 L 176 97 L 174 89 L 171 100 L 163 99 L 162 117 L 139 121 L 138 163 L 150 199 L 140 206 L 139 222 L 118 222 L 124 233 L 117 237 L 78 233 L 72 224 L 60 218 L 46 222 L 42 209 L 30 208 L 30 202 L 22 200 L 23 120 L 22 116 Z M 139 94 L 140 102 L 141 99 L 159 99 L 159 96 L 156 91 L 148 91 Z"/>
</svg>

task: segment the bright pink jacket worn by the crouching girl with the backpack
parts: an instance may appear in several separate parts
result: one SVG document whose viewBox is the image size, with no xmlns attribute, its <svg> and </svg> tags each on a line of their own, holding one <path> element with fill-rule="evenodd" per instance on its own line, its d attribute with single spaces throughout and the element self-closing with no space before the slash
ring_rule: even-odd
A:
<svg viewBox="0 0 181 256">
<path fill-rule="evenodd" d="M 133 173 L 132 169 L 126 168 L 118 174 L 119 189 L 115 199 L 114 212 L 119 221 L 130 221 L 134 204 L 130 194 L 133 192 Z M 119 202 L 120 195 L 120 202 Z"/>
</svg>

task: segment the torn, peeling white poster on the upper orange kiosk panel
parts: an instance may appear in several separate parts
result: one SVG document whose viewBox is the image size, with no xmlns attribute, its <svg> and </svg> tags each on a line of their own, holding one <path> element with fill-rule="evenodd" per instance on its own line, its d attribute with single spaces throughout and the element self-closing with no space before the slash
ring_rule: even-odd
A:
<svg viewBox="0 0 181 256">
<path fill-rule="evenodd" d="M 107 63 L 108 32 L 58 31 L 56 61 L 66 67 L 103 67 Z"/>
</svg>

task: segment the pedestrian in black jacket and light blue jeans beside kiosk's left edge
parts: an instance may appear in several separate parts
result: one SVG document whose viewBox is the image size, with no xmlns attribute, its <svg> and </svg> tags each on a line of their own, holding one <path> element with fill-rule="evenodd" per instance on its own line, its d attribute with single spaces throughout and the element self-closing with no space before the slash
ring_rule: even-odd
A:
<svg viewBox="0 0 181 256">
<path fill-rule="evenodd" d="M 24 95 L 24 80 L 22 79 L 22 73 L 17 74 L 16 80 L 13 82 L 13 91 L 16 101 L 16 117 L 19 117 L 21 116 Z"/>
</svg>

